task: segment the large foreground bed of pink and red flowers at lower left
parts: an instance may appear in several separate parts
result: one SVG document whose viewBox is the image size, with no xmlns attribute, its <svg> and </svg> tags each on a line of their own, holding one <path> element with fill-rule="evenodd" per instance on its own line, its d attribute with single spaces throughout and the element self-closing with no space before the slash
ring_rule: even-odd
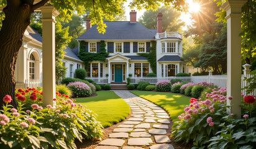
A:
<svg viewBox="0 0 256 149">
<path fill-rule="evenodd" d="M 0 114 L 2 148 L 76 148 L 75 139 L 101 138 L 102 126 L 95 115 L 76 105 L 75 100 L 57 92 L 53 99 L 56 106 L 43 108 L 42 94 L 36 89 L 27 90 L 16 90 L 18 95 L 24 93 L 16 96 L 17 109 L 8 104 L 11 96 L 3 99 L 6 106 Z"/>
</svg>

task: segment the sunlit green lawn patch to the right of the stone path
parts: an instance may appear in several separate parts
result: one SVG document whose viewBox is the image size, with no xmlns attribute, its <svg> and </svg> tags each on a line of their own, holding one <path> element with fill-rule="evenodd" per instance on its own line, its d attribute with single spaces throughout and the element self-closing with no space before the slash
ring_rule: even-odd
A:
<svg viewBox="0 0 256 149">
<path fill-rule="evenodd" d="M 184 107 L 190 104 L 190 97 L 170 92 L 153 92 L 153 91 L 130 91 L 131 93 L 143 97 L 158 106 L 162 107 L 171 116 L 174 121 L 178 120 L 178 115 L 183 113 Z"/>
</svg>

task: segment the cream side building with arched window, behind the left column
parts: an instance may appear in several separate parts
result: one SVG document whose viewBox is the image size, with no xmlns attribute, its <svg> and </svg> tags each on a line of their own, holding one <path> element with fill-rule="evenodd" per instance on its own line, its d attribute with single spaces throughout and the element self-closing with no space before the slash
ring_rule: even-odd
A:
<svg viewBox="0 0 256 149">
<path fill-rule="evenodd" d="M 83 61 L 69 47 L 64 50 L 63 65 L 68 70 L 66 77 L 74 77 L 76 68 L 83 68 Z M 16 61 L 16 88 L 42 86 L 42 37 L 30 26 L 25 30 L 23 44 Z"/>
</svg>

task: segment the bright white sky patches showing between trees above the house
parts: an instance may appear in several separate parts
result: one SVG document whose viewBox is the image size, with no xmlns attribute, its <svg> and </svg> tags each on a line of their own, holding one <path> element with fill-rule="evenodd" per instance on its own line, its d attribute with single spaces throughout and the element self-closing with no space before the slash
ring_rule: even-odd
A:
<svg viewBox="0 0 256 149">
<path fill-rule="evenodd" d="M 128 7 L 129 3 L 132 0 L 127 0 L 127 2 L 124 4 L 124 6 L 126 7 L 126 19 L 130 20 L 130 7 Z M 191 2 L 193 2 L 193 0 L 186 0 L 189 4 L 191 4 Z M 138 11 L 135 9 L 135 11 L 137 12 L 137 21 L 139 20 L 139 18 L 144 14 L 144 12 L 146 11 L 145 9 L 142 9 L 141 11 Z M 187 25 L 191 24 L 191 19 L 190 19 L 190 14 L 185 14 L 185 12 L 181 13 L 181 20 L 183 20 L 183 22 L 185 22 L 185 27 L 183 27 L 183 30 L 187 29 Z M 173 32 L 176 32 L 175 30 L 173 30 Z"/>
</svg>

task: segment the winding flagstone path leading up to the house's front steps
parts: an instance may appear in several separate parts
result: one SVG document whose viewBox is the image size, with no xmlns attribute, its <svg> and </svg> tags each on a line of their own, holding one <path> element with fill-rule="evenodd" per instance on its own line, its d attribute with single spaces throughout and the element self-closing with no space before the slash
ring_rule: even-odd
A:
<svg viewBox="0 0 256 149">
<path fill-rule="evenodd" d="M 95 149 L 174 149 L 167 135 L 167 112 L 129 91 L 114 92 L 129 104 L 131 118 L 118 125 Z"/>
</svg>

